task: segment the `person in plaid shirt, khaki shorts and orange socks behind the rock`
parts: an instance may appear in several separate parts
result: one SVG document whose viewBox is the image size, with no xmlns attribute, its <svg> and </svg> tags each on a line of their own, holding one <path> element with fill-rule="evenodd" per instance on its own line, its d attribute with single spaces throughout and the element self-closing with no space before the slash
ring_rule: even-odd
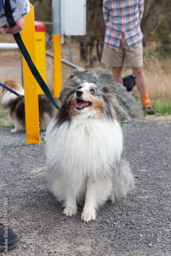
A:
<svg viewBox="0 0 171 256">
<path fill-rule="evenodd" d="M 106 26 L 101 62 L 112 67 L 113 79 L 123 84 L 122 67 L 132 68 L 141 95 L 143 110 L 155 111 L 148 97 L 143 71 L 143 33 L 140 28 L 144 11 L 143 0 L 103 0 L 103 19 Z"/>
</svg>

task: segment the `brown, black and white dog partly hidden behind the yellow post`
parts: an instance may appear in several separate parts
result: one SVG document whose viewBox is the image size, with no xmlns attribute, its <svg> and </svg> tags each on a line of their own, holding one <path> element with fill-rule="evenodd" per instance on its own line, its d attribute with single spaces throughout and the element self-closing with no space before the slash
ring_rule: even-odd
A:
<svg viewBox="0 0 171 256">
<path fill-rule="evenodd" d="M 25 103 L 24 89 L 18 86 L 13 81 L 6 81 L 4 84 L 18 93 L 20 96 L 7 91 L 3 88 L 1 105 L 3 110 L 8 113 L 9 121 L 15 127 L 11 130 L 12 133 L 17 133 L 25 130 Z M 60 105 L 60 100 L 53 96 L 54 100 Z M 39 122 L 40 130 L 45 131 L 49 121 L 55 116 L 57 110 L 44 94 L 38 95 Z"/>
</svg>

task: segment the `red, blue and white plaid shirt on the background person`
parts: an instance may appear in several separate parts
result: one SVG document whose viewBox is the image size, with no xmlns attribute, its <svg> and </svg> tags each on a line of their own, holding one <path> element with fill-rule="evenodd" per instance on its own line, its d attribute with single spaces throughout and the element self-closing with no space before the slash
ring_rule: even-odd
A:
<svg viewBox="0 0 171 256">
<path fill-rule="evenodd" d="M 130 50 L 134 50 L 143 38 L 140 28 L 143 11 L 143 0 L 103 0 L 105 44 L 119 51 L 124 36 Z"/>
</svg>

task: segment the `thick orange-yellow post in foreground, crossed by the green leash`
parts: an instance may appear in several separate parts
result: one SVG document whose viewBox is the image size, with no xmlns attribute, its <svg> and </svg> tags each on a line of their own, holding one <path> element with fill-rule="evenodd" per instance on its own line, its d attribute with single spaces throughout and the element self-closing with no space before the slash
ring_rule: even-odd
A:
<svg viewBox="0 0 171 256">
<path fill-rule="evenodd" d="M 30 12 L 25 16 L 25 26 L 22 30 L 24 44 L 35 64 L 35 27 L 34 7 L 30 4 Z M 33 77 L 27 62 L 23 58 L 23 79 L 25 89 L 25 116 L 27 143 L 39 143 L 39 115 L 37 82 Z"/>
</svg>

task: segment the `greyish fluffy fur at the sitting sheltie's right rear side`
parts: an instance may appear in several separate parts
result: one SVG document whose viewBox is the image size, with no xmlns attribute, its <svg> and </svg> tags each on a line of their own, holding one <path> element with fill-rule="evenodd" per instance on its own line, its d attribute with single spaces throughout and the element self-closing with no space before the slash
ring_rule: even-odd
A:
<svg viewBox="0 0 171 256">
<path fill-rule="evenodd" d="M 113 193 L 112 201 L 125 198 L 127 193 L 134 190 L 134 176 L 130 169 L 130 165 L 124 159 L 117 165 L 113 175 Z"/>
</svg>

